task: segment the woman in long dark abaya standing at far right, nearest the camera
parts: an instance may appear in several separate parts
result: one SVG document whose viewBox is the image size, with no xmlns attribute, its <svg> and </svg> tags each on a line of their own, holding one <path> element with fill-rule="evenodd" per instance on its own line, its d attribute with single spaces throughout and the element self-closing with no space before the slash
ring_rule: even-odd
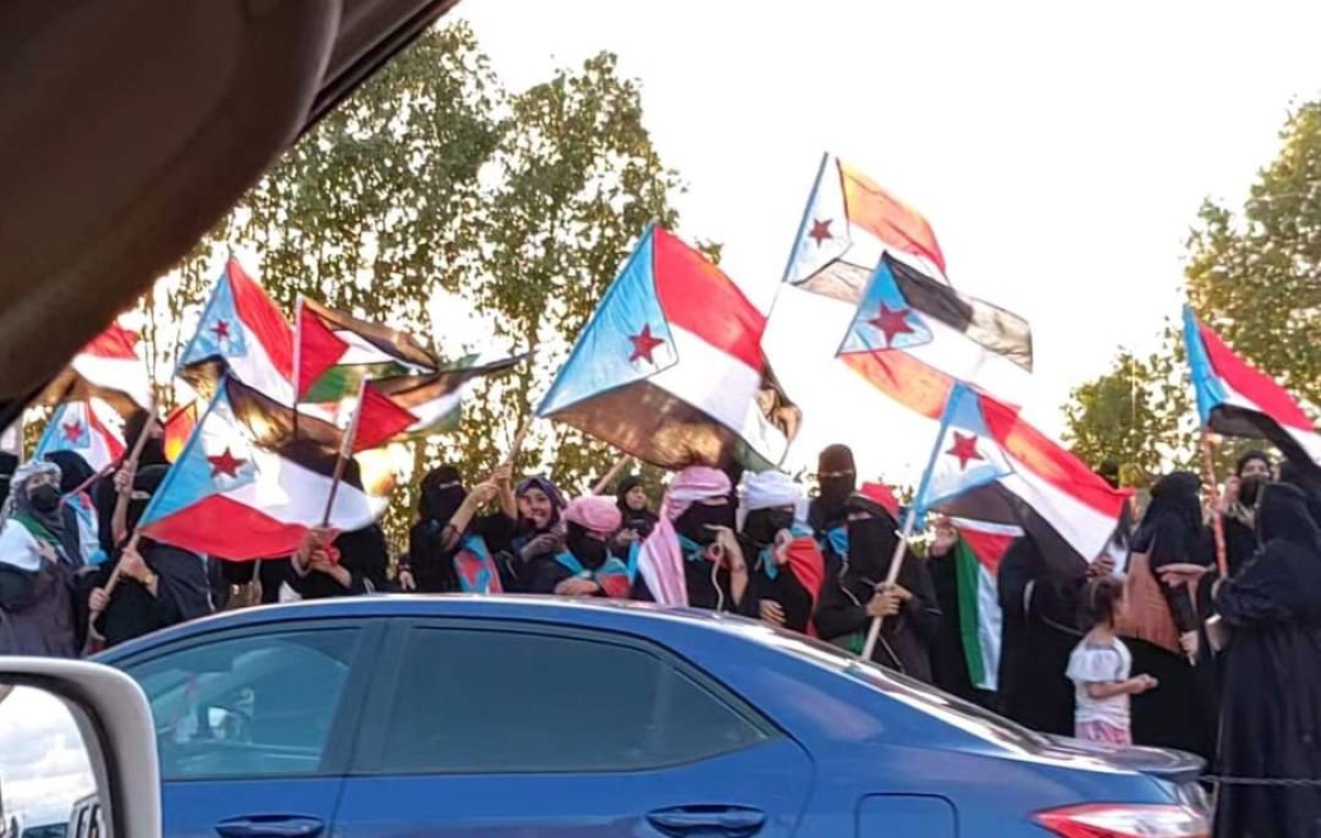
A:
<svg viewBox="0 0 1321 838">
<path fill-rule="evenodd" d="M 1262 549 L 1234 578 L 1176 566 L 1166 579 L 1201 575 L 1227 635 L 1217 773 L 1300 779 L 1312 785 L 1225 784 L 1215 834 L 1312 838 L 1321 830 L 1321 529 L 1293 486 L 1262 490 Z"/>
</svg>

